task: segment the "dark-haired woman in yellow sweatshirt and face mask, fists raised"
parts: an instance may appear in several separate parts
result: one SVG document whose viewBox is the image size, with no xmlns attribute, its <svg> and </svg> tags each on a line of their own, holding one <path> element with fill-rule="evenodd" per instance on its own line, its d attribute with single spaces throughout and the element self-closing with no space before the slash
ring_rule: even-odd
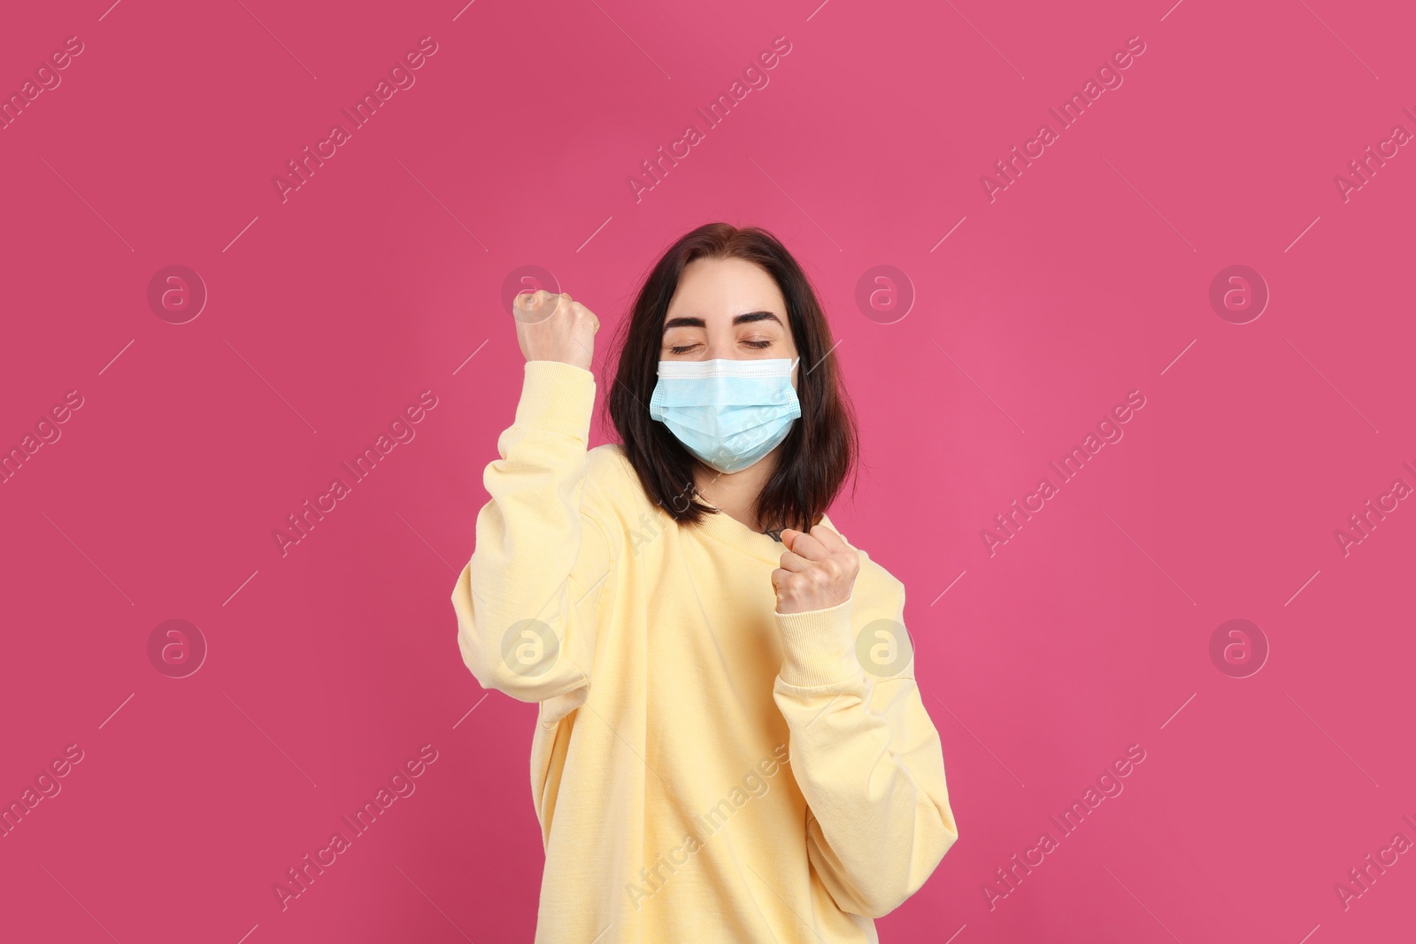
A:
<svg viewBox="0 0 1416 944">
<path fill-rule="evenodd" d="M 539 702 L 538 943 L 877 941 L 959 838 L 905 587 L 826 508 L 855 461 L 826 316 L 770 234 L 658 260 L 588 449 L 599 320 L 527 358 L 453 592 L 486 688 Z"/>
</svg>

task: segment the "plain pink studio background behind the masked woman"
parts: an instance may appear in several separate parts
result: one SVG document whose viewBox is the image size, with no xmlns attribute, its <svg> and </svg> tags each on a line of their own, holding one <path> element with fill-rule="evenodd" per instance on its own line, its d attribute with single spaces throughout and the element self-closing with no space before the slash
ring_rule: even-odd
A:
<svg viewBox="0 0 1416 944">
<path fill-rule="evenodd" d="M 1416 132 L 1403 4 L 109 1 L 0 31 L 6 93 L 84 44 L 0 130 L 0 446 L 84 398 L 0 485 L 0 798 L 84 752 L 0 839 L 0 937 L 531 938 L 535 709 L 480 701 L 449 601 L 520 392 L 503 283 L 544 266 L 610 327 L 712 219 L 818 284 L 867 459 L 831 514 L 909 589 L 961 838 L 882 940 L 1410 933 L 1416 853 L 1334 892 L 1416 841 L 1416 502 L 1334 538 L 1416 485 L 1416 154 L 1334 185 Z M 282 202 L 272 177 L 428 35 Z M 1123 85 L 990 202 L 980 175 L 1133 35 Z M 769 85 L 705 129 L 776 37 Z M 705 140 L 636 202 L 690 122 Z M 210 292 L 185 324 L 147 303 L 169 265 Z M 855 303 L 878 265 L 916 294 L 891 324 Z M 1247 324 L 1208 300 L 1231 265 L 1272 292 Z M 416 437 L 282 556 L 286 515 L 423 391 Z M 980 531 L 1130 391 L 1124 439 L 990 555 Z M 187 678 L 149 660 L 171 618 L 210 647 Z M 1209 655 L 1231 618 L 1270 647 L 1247 678 Z M 416 793 L 282 910 L 273 883 L 423 744 Z M 1130 744 L 1124 791 L 990 909 Z"/>
</svg>

